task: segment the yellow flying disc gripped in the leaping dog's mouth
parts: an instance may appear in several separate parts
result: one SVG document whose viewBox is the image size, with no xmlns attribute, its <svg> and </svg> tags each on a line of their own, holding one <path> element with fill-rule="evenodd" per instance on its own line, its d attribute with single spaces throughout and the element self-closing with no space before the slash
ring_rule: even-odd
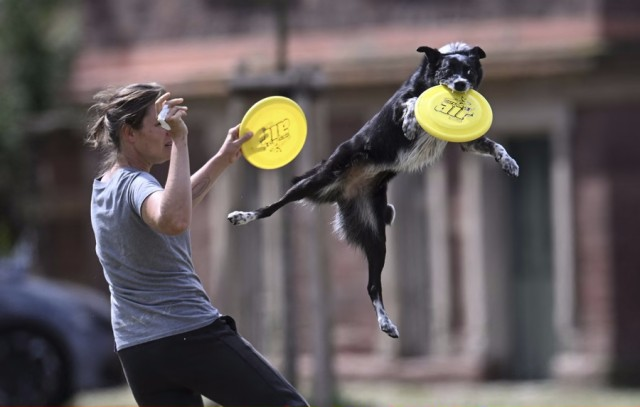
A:
<svg viewBox="0 0 640 407">
<path fill-rule="evenodd" d="M 489 131 L 493 112 L 478 92 L 453 92 L 444 85 L 422 92 L 416 100 L 416 120 L 434 137 L 462 143 L 482 137 Z"/>
</svg>

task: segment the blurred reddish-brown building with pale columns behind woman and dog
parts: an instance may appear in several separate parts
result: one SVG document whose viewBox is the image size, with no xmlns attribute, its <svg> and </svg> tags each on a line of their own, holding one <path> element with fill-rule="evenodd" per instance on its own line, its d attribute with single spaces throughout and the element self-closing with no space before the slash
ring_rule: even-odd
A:
<svg viewBox="0 0 640 407">
<path fill-rule="evenodd" d="M 39 222 L 53 237 L 41 261 L 55 273 L 103 284 L 88 216 L 97 157 L 81 145 L 93 93 L 157 81 L 184 96 L 194 169 L 253 102 L 286 93 L 310 123 L 300 158 L 278 171 L 240 162 L 193 226 L 214 303 L 254 343 L 281 352 L 288 315 L 298 352 L 310 351 L 314 308 L 324 306 L 344 377 L 640 383 L 640 3 L 289 0 L 288 30 L 260 0 L 83 7 L 69 87 L 79 113 L 59 131 L 44 126 L 36 146 Z M 275 200 L 378 111 L 419 64 L 418 46 L 451 41 L 486 51 L 488 136 L 521 175 L 450 145 L 438 165 L 394 180 L 384 294 L 401 337 L 392 340 L 378 331 L 363 256 L 330 232 L 330 207 L 292 205 L 241 228 L 226 214 Z M 324 301 L 310 283 L 318 272 L 329 273 Z"/>
</svg>

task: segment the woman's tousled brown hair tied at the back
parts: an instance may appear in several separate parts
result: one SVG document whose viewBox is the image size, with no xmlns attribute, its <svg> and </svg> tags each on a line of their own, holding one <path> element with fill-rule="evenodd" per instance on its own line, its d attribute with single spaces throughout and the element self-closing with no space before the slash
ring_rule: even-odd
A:
<svg viewBox="0 0 640 407">
<path fill-rule="evenodd" d="M 103 153 L 100 173 L 111 168 L 120 152 L 120 131 L 125 125 L 142 127 L 147 108 L 165 93 L 157 83 L 136 83 L 96 93 L 89 108 L 85 142 Z"/>
</svg>

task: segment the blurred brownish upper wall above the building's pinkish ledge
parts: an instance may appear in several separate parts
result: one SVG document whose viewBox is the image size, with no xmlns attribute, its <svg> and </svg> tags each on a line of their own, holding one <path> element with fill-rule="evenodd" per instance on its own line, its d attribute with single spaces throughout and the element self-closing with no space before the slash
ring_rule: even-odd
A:
<svg viewBox="0 0 640 407">
<path fill-rule="evenodd" d="M 604 0 L 289 0 L 289 25 L 295 33 L 388 24 L 442 25 L 465 19 L 586 15 L 600 1 Z M 273 31 L 275 21 L 269 2 L 256 0 L 91 0 L 85 2 L 84 14 L 88 47 Z"/>
</svg>

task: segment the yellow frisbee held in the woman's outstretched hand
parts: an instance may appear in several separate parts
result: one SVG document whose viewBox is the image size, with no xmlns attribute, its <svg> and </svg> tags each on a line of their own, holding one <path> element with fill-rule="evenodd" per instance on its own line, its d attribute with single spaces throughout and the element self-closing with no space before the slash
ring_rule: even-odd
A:
<svg viewBox="0 0 640 407">
<path fill-rule="evenodd" d="M 253 132 L 242 145 L 242 154 L 251 164 L 265 170 L 289 164 L 307 139 L 307 119 L 300 106 L 284 96 L 258 101 L 244 115 L 240 134 Z"/>
</svg>

